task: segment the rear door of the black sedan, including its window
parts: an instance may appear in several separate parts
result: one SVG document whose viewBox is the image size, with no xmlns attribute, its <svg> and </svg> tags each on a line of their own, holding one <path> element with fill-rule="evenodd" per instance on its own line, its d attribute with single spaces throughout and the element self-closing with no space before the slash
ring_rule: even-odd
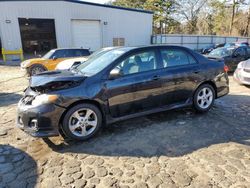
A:
<svg viewBox="0 0 250 188">
<path fill-rule="evenodd" d="M 165 105 L 188 102 L 197 83 L 202 79 L 198 61 L 183 48 L 164 47 L 160 50 L 164 69 L 162 88 Z M 171 97 L 171 98 L 169 98 Z"/>
</svg>

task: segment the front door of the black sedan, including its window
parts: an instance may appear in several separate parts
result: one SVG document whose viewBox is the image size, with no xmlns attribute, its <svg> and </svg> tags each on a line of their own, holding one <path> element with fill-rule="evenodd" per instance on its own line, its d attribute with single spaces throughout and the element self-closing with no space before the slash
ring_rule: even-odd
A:
<svg viewBox="0 0 250 188">
<path fill-rule="evenodd" d="M 106 82 L 113 117 L 147 111 L 160 105 L 161 80 L 157 62 L 156 51 L 149 50 L 134 53 L 117 64 L 122 76 Z"/>
</svg>

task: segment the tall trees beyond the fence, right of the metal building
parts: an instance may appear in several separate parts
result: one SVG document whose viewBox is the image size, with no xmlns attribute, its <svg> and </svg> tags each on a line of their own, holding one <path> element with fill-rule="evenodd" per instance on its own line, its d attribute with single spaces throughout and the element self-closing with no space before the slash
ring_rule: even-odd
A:
<svg viewBox="0 0 250 188">
<path fill-rule="evenodd" d="M 155 34 L 250 34 L 246 0 L 115 0 L 111 4 L 153 11 Z"/>
</svg>

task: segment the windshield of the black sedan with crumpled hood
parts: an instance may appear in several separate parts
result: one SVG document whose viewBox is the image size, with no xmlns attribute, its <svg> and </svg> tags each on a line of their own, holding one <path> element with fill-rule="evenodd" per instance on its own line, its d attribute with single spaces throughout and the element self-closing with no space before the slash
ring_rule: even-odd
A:
<svg viewBox="0 0 250 188">
<path fill-rule="evenodd" d="M 127 52 L 127 48 L 114 49 L 105 53 L 98 53 L 89 58 L 85 63 L 79 65 L 77 70 L 82 73 L 94 75 L 110 65 L 115 59 Z"/>
</svg>

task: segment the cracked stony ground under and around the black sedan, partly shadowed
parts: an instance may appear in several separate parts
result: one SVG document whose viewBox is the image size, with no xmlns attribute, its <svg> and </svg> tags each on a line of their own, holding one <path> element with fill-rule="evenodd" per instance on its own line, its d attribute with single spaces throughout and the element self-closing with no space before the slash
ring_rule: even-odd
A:
<svg viewBox="0 0 250 188">
<path fill-rule="evenodd" d="M 17 129 L 28 80 L 15 66 L 0 75 L 0 187 L 250 187 L 250 88 L 232 77 L 206 114 L 157 113 L 72 142 Z"/>
</svg>

